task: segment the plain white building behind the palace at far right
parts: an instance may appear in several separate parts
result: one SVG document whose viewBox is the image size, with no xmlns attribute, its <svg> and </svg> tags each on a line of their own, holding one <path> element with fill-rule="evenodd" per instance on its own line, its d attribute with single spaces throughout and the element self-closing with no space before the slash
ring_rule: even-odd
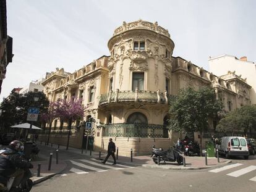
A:
<svg viewBox="0 0 256 192">
<path fill-rule="evenodd" d="M 252 104 L 256 104 L 256 64 L 252 61 L 247 61 L 247 57 L 241 57 L 237 59 L 235 56 L 223 55 L 217 57 L 210 57 L 208 59 L 210 71 L 216 75 L 224 75 L 226 73 L 236 73 L 239 77 L 246 79 L 252 88 L 249 90 L 250 101 Z M 240 94 L 242 93 L 241 88 L 237 88 Z M 241 102 L 241 105 L 244 105 Z"/>
</svg>

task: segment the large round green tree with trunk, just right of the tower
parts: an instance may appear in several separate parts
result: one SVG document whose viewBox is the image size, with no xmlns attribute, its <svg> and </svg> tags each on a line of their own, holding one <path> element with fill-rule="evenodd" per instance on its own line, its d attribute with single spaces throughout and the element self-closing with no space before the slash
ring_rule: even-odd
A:
<svg viewBox="0 0 256 192">
<path fill-rule="evenodd" d="M 200 132 L 202 152 L 202 133 L 209 128 L 208 119 L 217 117 L 221 108 L 222 104 L 216 100 L 213 88 L 182 89 L 169 106 L 169 127 L 174 131 Z"/>
</svg>

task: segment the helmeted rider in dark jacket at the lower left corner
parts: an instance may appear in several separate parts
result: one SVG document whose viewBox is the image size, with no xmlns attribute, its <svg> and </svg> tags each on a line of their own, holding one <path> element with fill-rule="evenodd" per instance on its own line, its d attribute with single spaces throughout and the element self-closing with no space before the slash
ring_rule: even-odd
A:
<svg viewBox="0 0 256 192">
<path fill-rule="evenodd" d="M 14 140 L 7 148 L 0 150 L 0 175 L 5 178 L 15 177 L 11 191 L 17 191 L 17 186 L 31 177 L 27 170 L 33 165 L 22 158 L 23 149 L 23 143 Z"/>
</svg>

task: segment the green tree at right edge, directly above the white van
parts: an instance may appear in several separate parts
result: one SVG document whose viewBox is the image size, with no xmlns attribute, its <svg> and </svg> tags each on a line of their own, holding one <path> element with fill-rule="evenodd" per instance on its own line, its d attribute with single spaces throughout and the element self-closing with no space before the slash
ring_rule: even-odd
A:
<svg viewBox="0 0 256 192">
<path fill-rule="evenodd" d="M 250 136 L 253 129 L 256 129 L 256 105 L 242 106 L 229 112 L 216 127 L 221 133 L 244 132 L 247 135 L 249 131 Z"/>
</svg>

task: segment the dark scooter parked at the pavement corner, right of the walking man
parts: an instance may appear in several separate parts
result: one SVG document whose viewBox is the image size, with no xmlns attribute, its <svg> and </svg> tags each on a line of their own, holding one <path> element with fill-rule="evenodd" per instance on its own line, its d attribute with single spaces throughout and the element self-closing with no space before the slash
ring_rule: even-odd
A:
<svg viewBox="0 0 256 192">
<path fill-rule="evenodd" d="M 153 162 L 155 162 L 155 164 L 158 163 L 158 157 L 160 162 L 163 161 L 165 163 L 166 161 L 177 161 L 177 164 L 183 164 L 182 152 L 177 148 L 169 148 L 168 150 L 163 151 L 162 148 L 156 149 L 155 145 L 153 145 L 151 158 L 153 159 Z"/>
</svg>

